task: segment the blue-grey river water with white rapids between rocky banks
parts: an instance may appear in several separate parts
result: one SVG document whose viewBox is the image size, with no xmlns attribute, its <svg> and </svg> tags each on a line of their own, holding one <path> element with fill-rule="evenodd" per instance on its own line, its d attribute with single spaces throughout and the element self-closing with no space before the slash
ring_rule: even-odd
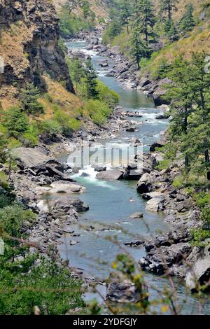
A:
<svg viewBox="0 0 210 329">
<path fill-rule="evenodd" d="M 120 106 L 126 111 L 139 111 L 143 117 L 134 118 L 135 121 L 143 121 L 139 125 L 139 132 L 123 132 L 115 140 L 109 141 L 111 145 L 118 146 L 127 140 L 135 137 L 142 141 L 144 151 L 148 151 L 148 146 L 160 137 L 160 134 L 167 127 L 167 120 L 156 120 L 157 113 L 161 110 L 155 108 L 153 99 L 149 99 L 137 90 L 127 90 L 113 77 L 106 76 L 107 71 L 99 66 L 104 61 L 93 51 L 85 50 L 84 42 L 67 43 L 71 49 L 80 49 L 92 56 L 92 63 L 97 70 L 99 78 L 112 90 L 118 92 L 120 96 Z M 109 69 L 112 63 L 109 61 Z M 104 144 L 106 141 L 101 141 Z M 66 162 L 67 155 L 62 156 Z M 80 195 L 80 200 L 90 205 L 90 210 L 80 214 L 79 221 L 73 225 L 73 230 L 78 234 L 74 237 L 78 244 L 70 246 L 69 237 L 64 238 L 64 244 L 59 246 L 62 258 L 69 259 L 71 266 L 83 269 L 85 276 L 94 276 L 99 280 L 106 279 L 111 271 L 111 261 L 120 252 L 120 246 L 108 237 L 117 237 L 121 245 L 125 242 L 137 240 L 141 237 L 151 237 L 155 232 L 168 230 L 168 225 L 164 221 L 164 215 L 153 214 L 146 211 L 146 202 L 137 193 L 136 181 L 99 181 L 95 178 L 96 172 L 90 166 L 80 170 L 73 177 L 87 188 L 86 193 Z M 131 202 L 131 200 L 133 202 Z M 141 212 L 144 220 L 130 219 L 130 214 Z M 71 238 L 72 239 L 72 238 Z M 125 246 L 124 246 L 125 248 Z M 136 260 L 144 256 L 144 248 L 127 248 Z M 103 264 L 104 263 L 104 264 Z M 163 290 L 165 286 L 170 288 L 169 281 L 152 274 L 146 274 L 149 286 Z M 183 302 L 184 314 L 196 314 L 198 312 L 198 302 L 192 295 L 187 297 L 184 286 L 174 280 L 177 296 Z M 150 288 L 152 297 L 157 297 L 155 289 Z M 90 296 L 88 296 L 90 297 Z M 203 312 L 210 313 L 209 301 L 204 303 Z"/>
</svg>

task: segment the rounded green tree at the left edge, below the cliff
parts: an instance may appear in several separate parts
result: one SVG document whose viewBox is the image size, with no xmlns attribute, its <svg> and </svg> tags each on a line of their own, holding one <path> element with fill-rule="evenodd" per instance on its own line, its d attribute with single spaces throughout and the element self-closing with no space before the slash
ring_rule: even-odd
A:
<svg viewBox="0 0 210 329">
<path fill-rule="evenodd" d="M 3 126 L 8 137 L 18 138 L 29 129 L 27 114 L 17 107 L 10 108 L 3 118 Z"/>
</svg>

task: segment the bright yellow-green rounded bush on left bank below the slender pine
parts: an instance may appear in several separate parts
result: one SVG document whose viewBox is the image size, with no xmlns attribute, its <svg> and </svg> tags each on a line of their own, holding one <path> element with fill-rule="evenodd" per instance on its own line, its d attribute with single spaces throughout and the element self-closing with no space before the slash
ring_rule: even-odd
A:
<svg viewBox="0 0 210 329">
<path fill-rule="evenodd" d="M 87 116 L 90 116 L 92 121 L 97 125 L 105 123 L 111 114 L 109 106 L 100 102 L 98 99 L 90 99 L 90 101 L 86 102 L 85 111 L 87 111 Z"/>
</svg>

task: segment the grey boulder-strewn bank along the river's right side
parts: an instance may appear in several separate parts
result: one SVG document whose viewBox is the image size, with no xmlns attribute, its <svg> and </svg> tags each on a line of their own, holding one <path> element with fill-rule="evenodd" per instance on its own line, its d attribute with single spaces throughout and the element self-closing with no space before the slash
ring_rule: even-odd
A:
<svg viewBox="0 0 210 329">
<path fill-rule="evenodd" d="M 120 53 L 119 46 L 110 48 L 102 45 L 97 34 L 89 36 L 88 40 L 88 49 L 97 50 L 99 55 L 108 57 L 113 62 L 111 69 L 108 61 L 101 64 L 107 70 L 107 76 L 115 77 L 127 88 L 141 90 L 148 97 L 153 97 L 155 105 L 166 106 L 164 118 L 169 118 L 169 103 L 163 99 L 164 85 L 171 82 L 168 78 L 152 81 L 145 76 L 140 79 L 137 64 Z M 207 248 L 204 250 L 191 246 L 192 229 L 202 227 L 200 209 L 186 190 L 173 186 L 174 179 L 180 176 L 184 167 L 183 162 L 177 160 L 167 169 L 157 169 L 156 165 L 163 160 L 163 154 L 155 152 L 155 148 L 161 148 L 165 142 L 164 139 L 155 142 L 150 154 L 144 154 L 143 158 L 142 155 L 137 156 L 123 173 L 115 171 L 113 175 L 110 172 L 107 175 L 108 173 L 103 172 L 99 179 L 139 179 L 137 190 L 147 200 L 146 210 L 164 212 L 170 226 L 169 232 L 157 235 L 151 241 L 131 242 L 131 246 L 141 246 L 142 243 L 145 245 L 146 257 L 139 261 L 142 269 L 154 274 L 181 277 L 191 290 L 195 290 L 197 281 L 202 285 L 210 278 L 210 255 Z"/>
</svg>

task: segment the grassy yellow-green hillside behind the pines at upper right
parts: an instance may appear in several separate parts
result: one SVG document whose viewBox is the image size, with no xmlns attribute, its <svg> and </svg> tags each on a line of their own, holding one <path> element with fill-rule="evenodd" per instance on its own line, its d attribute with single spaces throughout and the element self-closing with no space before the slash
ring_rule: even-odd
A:
<svg viewBox="0 0 210 329">
<path fill-rule="evenodd" d="M 144 50 L 138 49 L 137 43 L 134 40 L 137 36 L 134 36 L 133 32 L 133 20 L 135 13 L 131 11 L 131 15 L 128 17 L 127 22 L 120 21 L 118 19 L 118 13 L 113 19 L 111 25 L 104 34 L 104 43 L 114 45 L 120 45 L 120 52 L 128 57 L 135 57 L 134 50 L 139 51 L 139 61 L 143 58 L 141 66 L 141 76 L 145 73 L 151 73 L 152 77 L 157 76 L 159 66 L 162 60 L 166 60 L 168 64 L 171 64 L 174 59 L 183 54 L 188 58 L 190 52 L 204 50 L 207 54 L 210 52 L 210 1 L 207 0 L 179 0 L 176 3 L 176 10 L 172 10 L 172 26 L 167 27 L 167 10 L 165 13 L 161 13 L 160 6 L 161 0 L 151 1 L 151 7 L 154 15 L 153 31 L 150 30 L 148 24 L 148 35 L 151 36 L 151 49 L 148 50 L 149 56 L 144 54 Z M 183 15 L 186 14 L 187 6 L 193 5 L 193 27 L 192 29 L 182 29 L 180 26 Z M 121 13 L 125 10 L 123 7 L 123 1 L 121 1 Z M 134 5 L 130 5 L 130 10 L 134 10 Z M 139 9 L 140 10 L 140 9 Z M 143 15 L 143 14 L 142 14 Z M 127 27 L 130 29 L 130 33 L 127 34 Z M 186 23 L 188 25 L 188 23 Z M 168 31 L 167 31 L 168 29 Z M 120 31 L 120 33 L 119 33 Z M 154 34 L 153 34 L 154 32 Z M 138 34 L 138 33 L 137 33 Z M 154 36 L 155 38 L 154 38 Z M 139 34 L 143 44 L 145 43 L 144 29 Z M 145 46 L 145 45 L 144 45 Z M 135 48 L 135 49 L 134 49 Z M 145 48 L 145 47 L 143 47 Z M 142 52 L 142 55 L 140 54 Z"/>
</svg>

